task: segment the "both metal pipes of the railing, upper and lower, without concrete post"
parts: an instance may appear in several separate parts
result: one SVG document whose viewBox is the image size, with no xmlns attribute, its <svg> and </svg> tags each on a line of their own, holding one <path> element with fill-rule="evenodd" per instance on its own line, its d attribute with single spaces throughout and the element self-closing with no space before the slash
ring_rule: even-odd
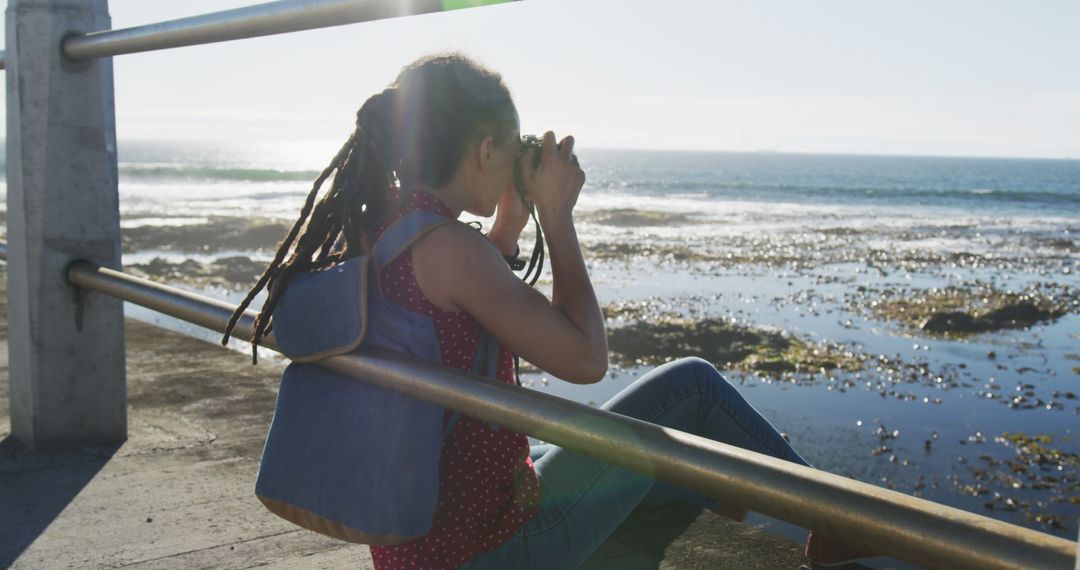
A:
<svg viewBox="0 0 1080 570">
<path fill-rule="evenodd" d="M 500 1 L 505 0 L 287 0 L 75 36 L 62 50 L 70 58 L 87 59 Z M 6 257 L 6 244 L 0 243 L 0 259 Z M 234 309 L 85 261 L 72 262 L 66 276 L 77 287 L 217 331 Z M 237 337 L 249 336 L 254 316 L 245 313 Z M 261 344 L 276 349 L 272 338 Z M 1074 568 L 1077 543 L 1065 539 L 528 389 L 370 349 L 320 364 L 903 560 L 931 567 Z"/>
</svg>

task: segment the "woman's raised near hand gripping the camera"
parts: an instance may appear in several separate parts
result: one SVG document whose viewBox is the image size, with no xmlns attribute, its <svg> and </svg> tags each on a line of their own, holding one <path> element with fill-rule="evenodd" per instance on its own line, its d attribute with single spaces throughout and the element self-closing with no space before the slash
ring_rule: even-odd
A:
<svg viewBox="0 0 1080 570">
<path fill-rule="evenodd" d="M 525 157 L 526 164 L 531 164 L 534 152 Z M 544 133 L 542 152 L 540 166 L 525 168 L 524 178 L 529 200 L 537 205 L 540 225 L 545 226 L 571 218 L 578 194 L 585 184 L 585 173 L 573 155 L 572 136 L 556 146 L 555 133 Z"/>
</svg>

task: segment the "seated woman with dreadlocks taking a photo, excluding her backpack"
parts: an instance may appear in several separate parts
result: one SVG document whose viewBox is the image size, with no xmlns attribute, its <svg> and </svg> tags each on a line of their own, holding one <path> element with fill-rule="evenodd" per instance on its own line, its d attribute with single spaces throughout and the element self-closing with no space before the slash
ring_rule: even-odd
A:
<svg viewBox="0 0 1080 570">
<path fill-rule="evenodd" d="M 517 111 L 499 74 L 457 54 L 404 68 L 360 109 L 355 132 L 315 181 L 300 218 L 238 311 L 269 287 L 253 342 L 267 330 L 291 275 L 366 252 L 410 212 L 450 219 L 469 212 L 496 215 L 487 235 L 460 222 L 437 227 L 380 270 L 382 296 L 433 320 L 444 366 L 468 370 L 487 331 L 500 344 L 499 380 L 514 382 L 514 354 L 569 382 L 603 378 L 604 318 L 573 223 L 585 175 L 572 137 L 556 142 L 546 133 L 539 166 L 523 173 L 546 236 L 552 298 L 508 267 L 529 218 L 515 191 L 519 140 Z M 335 173 L 316 205 L 322 184 Z M 604 408 L 806 464 L 700 359 L 653 370 Z M 636 506 L 672 502 L 719 506 L 557 447 L 530 450 L 524 434 L 464 417 L 443 443 L 431 531 L 404 544 L 372 546 L 372 557 L 376 568 L 572 568 Z"/>
</svg>

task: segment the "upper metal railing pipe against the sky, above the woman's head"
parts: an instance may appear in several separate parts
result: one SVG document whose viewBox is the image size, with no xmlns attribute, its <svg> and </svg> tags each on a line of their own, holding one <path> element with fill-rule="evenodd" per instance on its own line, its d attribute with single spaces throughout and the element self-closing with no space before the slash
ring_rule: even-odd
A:
<svg viewBox="0 0 1080 570">
<path fill-rule="evenodd" d="M 508 1 L 514 0 L 282 0 L 73 36 L 64 41 L 63 50 L 71 59 L 92 59 Z"/>
</svg>

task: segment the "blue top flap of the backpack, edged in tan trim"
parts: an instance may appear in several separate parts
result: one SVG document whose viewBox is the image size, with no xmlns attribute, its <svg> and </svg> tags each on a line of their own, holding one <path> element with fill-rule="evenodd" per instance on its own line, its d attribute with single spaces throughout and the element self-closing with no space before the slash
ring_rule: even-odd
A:
<svg viewBox="0 0 1080 570">
<path fill-rule="evenodd" d="M 273 310 L 274 339 L 294 362 L 345 354 L 367 331 L 370 258 L 354 257 L 295 275 Z"/>
</svg>

